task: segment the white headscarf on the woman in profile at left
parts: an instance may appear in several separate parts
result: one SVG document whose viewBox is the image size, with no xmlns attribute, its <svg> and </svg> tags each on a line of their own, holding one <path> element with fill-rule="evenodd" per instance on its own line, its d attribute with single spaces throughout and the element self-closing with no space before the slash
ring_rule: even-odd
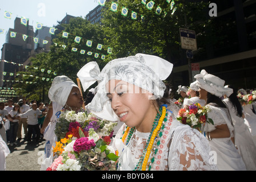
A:
<svg viewBox="0 0 256 182">
<path fill-rule="evenodd" d="M 51 88 L 48 92 L 48 97 L 51 101 L 57 102 L 60 106 L 65 106 L 69 93 L 73 86 L 78 86 L 67 76 L 57 76 L 51 83 Z"/>
</svg>

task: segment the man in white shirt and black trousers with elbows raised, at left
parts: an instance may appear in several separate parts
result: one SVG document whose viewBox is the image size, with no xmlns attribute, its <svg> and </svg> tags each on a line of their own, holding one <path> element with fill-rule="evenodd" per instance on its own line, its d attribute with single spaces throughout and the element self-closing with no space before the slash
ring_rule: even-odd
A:
<svg viewBox="0 0 256 182">
<path fill-rule="evenodd" d="M 38 115 L 42 114 L 42 111 L 37 108 L 37 104 L 32 104 L 31 109 L 26 111 L 26 113 L 20 114 L 20 117 L 27 117 L 27 142 L 31 142 L 31 135 L 33 130 L 37 135 L 36 140 L 39 142 L 40 139 L 40 129 L 38 123 Z M 44 113 L 43 113 L 44 114 Z"/>
</svg>

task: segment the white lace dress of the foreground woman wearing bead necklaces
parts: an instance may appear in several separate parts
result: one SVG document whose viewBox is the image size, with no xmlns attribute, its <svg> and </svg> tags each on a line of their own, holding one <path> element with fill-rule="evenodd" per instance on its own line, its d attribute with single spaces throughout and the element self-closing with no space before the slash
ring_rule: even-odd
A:
<svg viewBox="0 0 256 182">
<path fill-rule="evenodd" d="M 162 137 L 155 142 L 154 150 L 150 153 L 146 170 L 217 170 L 217 166 L 211 162 L 210 147 L 207 139 L 199 131 L 183 125 L 177 119 L 171 117 L 167 110 L 168 118 Z M 145 148 L 150 133 L 134 131 L 129 143 L 123 144 L 123 124 L 113 140 L 112 146 L 119 152 L 118 169 L 131 171 L 137 166 Z M 157 150 L 155 150 L 157 148 Z"/>
</svg>

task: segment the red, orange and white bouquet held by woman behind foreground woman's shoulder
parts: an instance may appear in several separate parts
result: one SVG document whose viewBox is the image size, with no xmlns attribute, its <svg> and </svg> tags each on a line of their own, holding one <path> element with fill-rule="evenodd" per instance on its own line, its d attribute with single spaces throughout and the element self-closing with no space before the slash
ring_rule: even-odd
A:
<svg viewBox="0 0 256 182">
<path fill-rule="evenodd" d="M 201 128 L 205 122 L 213 125 L 213 119 L 207 118 L 209 107 L 202 107 L 200 104 L 191 104 L 178 112 L 177 120 L 192 128 Z"/>
</svg>

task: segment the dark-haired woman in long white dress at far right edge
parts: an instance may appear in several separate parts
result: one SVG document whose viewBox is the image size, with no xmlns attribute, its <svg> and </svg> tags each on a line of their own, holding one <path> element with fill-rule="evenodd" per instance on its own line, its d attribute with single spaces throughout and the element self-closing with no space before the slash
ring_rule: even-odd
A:
<svg viewBox="0 0 256 182">
<path fill-rule="evenodd" d="M 226 97 L 223 102 L 226 104 L 231 115 L 231 119 L 234 126 L 234 143 L 237 146 L 238 153 L 242 156 L 243 162 L 247 170 L 256 170 L 256 146 L 251 138 L 251 133 L 248 127 L 245 125 L 245 115 L 243 114 L 243 108 L 237 98 L 237 92 L 233 86 L 227 85 L 225 87 L 233 89 L 233 93 Z"/>
</svg>

